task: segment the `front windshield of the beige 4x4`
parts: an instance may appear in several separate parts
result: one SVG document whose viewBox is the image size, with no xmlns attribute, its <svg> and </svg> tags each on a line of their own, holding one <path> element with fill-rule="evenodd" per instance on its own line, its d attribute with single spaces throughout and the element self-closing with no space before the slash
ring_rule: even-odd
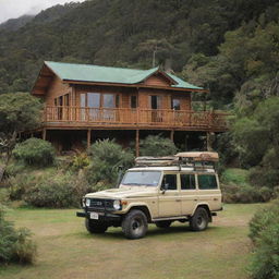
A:
<svg viewBox="0 0 279 279">
<path fill-rule="evenodd" d="M 160 177 L 160 171 L 128 171 L 121 184 L 131 186 L 157 186 Z"/>
</svg>

